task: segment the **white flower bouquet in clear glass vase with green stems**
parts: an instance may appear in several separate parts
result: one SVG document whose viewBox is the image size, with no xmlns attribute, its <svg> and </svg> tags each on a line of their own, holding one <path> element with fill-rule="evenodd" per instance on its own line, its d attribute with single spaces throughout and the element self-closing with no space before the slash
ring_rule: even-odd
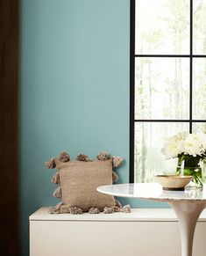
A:
<svg viewBox="0 0 206 256">
<path fill-rule="evenodd" d="M 191 175 L 197 187 L 202 187 L 202 168 L 206 160 L 206 134 L 179 133 L 167 138 L 162 153 L 167 159 L 177 157 L 176 174 Z"/>
</svg>

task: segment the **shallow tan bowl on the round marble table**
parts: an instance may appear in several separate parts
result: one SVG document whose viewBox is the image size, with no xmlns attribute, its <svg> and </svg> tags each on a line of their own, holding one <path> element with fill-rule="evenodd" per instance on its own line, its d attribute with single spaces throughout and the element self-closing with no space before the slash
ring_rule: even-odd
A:
<svg viewBox="0 0 206 256">
<path fill-rule="evenodd" d="M 160 183 L 166 190 L 184 190 L 192 176 L 186 175 L 156 175 L 154 181 Z"/>
</svg>

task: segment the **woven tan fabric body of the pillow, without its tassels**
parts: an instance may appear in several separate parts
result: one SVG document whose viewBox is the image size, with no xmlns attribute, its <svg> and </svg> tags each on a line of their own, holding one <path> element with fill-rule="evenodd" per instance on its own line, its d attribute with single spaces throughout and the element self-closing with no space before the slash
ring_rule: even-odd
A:
<svg viewBox="0 0 206 256">
<path fill-rule="evenodd" d="M 61 201 L 69 207 L 89 208 L 112 207 L 115 200 L 112 195 L 101 194 L 96 187 L 112 184 L 112 159 L 88 162 L 68 161 L 62 163 L 55 159 L 60 175 Z"/>
</svg>

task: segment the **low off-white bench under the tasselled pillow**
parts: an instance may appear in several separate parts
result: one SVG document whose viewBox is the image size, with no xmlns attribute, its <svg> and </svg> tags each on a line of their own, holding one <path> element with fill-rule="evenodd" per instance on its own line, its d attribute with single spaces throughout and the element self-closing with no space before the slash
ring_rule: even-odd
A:
<svg viewBox="0 0 206 256">
<path fill-rule="evenodd" d="M 136 208 L 131 214 L 47 213 L 30 216 L 30 256 L 181 256 L 171 208 Z M 206 210 L 195 230 L 193 256 L 206 255 Z"/>
</svg>

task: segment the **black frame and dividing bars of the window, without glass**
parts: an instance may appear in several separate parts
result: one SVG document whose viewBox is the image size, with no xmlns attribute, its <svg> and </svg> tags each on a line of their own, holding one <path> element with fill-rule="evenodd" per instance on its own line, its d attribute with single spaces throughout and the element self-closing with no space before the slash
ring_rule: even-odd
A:
<svg viewBox="0 0 206 256">
<path fill-rule="evenodd" d="M 135 54 L 135 5 L 138 0 L 130 0 L 130 176 L 129 181 L 134 182 L 134 128 L 136 122 L 187 122 L 189 124 L 189 133 L 192 133 L 192 124 L 194 122 L 203 122 L 206 120 L 194 120 L 193 112 L 193 59 L 206 58 L 206 55 L 193 54 L 193 0 L 189 0 L 189 54 L 188 55 L 136 55 Z M 135 119 L 135 59 L 141 57 L 181 57 L 189 58 L 189 118 L 188 120 L 142 120 Z"/>
</svg>

